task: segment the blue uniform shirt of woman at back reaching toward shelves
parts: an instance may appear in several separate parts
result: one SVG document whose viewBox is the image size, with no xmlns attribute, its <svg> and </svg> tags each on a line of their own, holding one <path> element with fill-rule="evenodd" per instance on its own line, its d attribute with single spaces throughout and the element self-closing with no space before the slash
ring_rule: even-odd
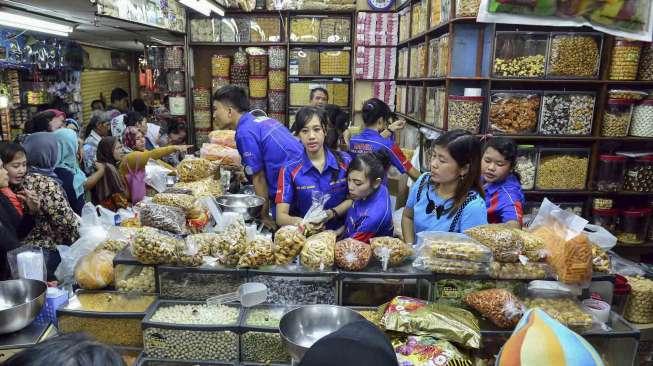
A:
<svg viewBox="0 0 653 366">
<path fill-rule="evenodd" d="M 383 150 L 390 157 L 392 165 L 405 174 L 413 168 L 413 165 L 406 159 L 399 146 L 392 141 L 381 136 L 378 131 L 366 128 L 363 132 L 353 136 L 349 140 L 349 152 L 356 157 L 356 154 L 364 154 L 373 151 Z"/>
</svg>

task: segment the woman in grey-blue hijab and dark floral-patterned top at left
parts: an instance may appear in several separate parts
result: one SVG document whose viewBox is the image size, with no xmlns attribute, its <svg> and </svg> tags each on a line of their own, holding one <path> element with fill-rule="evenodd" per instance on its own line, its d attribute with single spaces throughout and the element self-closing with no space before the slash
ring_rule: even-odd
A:
<svg viewBox="0 0 653 366">
<path fill-rule="evenodd" d="M 49 132 L 31 134 L 23 147 L 27 152 L 28 173 L 22 187 L 15 191 L 33 191 L 40 199 L 40 209 L 34 215 L 34 229 L 25 238 L 25 243 L 45 250 L 48 280 L 53 280 L 54 270 L 61 261 L 57 245 L 70 245 L 79 238 L 79 220 L 66 199 L 61 179 L 54 171 L 59 158 L 55 135 Z"/>
</svg>

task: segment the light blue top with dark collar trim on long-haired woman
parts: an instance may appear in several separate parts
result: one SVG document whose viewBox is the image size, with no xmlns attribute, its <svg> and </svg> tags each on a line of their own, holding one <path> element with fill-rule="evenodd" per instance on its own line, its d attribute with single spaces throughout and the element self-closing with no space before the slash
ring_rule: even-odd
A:
<svg viewBox="0 0 653 366">
<path fill-rule="evenodd" d="M 450 208 L 453 206 L 453 199 L 443 200 L 438 196 L 435 186 L 432 183 L 429 183 L 422 189 L 422 194 L 420 199 L 417 200 L 417 191 L 419 190 L 420 182 L 424 176 L 429 173 L 422 174 L 410 187 L 410 192 L 408 193 L 408 200 L 406 201 L 406 207 L 413 209 L 413 222 L 415 226 L 415 234 L 422 231 L 449 231 L 451 223 L 453 221 L 453 216 L 449 216 Z M 430 179 L 430 178 L 427 178 Z M 428 190 L 428 194 L 427 194 Z M 458 225 L 454 228 L 453 232 L 462 233 L 463 231 L 473 228 L 475 226 L 487 224 L 487 211 L 485 208 L 485 200 L 478 193 L 473 193 L 475 195 L 474 199 L 465 207 L 462 214 L 460 215 L 460 220 Z M 433 201 L 435 205 L 443 205 L 444 210 L 447 212 L 440 216 L 440 219 L 437 218 L 436 212 L 434 211 L 431 214 L 426 213 L 426 206 L 428 205 L 429 200 Z"/>
</svg>

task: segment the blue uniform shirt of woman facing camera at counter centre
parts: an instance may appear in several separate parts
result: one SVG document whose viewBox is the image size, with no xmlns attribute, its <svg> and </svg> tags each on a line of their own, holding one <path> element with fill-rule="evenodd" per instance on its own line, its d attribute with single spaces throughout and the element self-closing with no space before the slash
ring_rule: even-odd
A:
<svg viewBox="0 0 653 366">
<path fill-rule="evenodd" d="M 329 194 L 331 197 L 324 205 L 324 209 L 338 206 L 347 198 L 347 167 L 351 157 L 346 153 L 340 154 L 342 162 L 338 164 L 336 157 L 331 150 L 326 150 L 326 164 L 324 171 L 320 173 L 308 158 L 302 153 L 302 160 L 290 163 L 279 171 L 279 182 L 277 184 L 277 196 L 275 202 L 288 203 L 290 215 L 304 217 L 313 203 L 313 192 Z M 333 179 L 337 173 L 336 179 Z M 326 228 L 335 230 L 343 225 L 343 220 L 331 220 Z"/>
</svg>

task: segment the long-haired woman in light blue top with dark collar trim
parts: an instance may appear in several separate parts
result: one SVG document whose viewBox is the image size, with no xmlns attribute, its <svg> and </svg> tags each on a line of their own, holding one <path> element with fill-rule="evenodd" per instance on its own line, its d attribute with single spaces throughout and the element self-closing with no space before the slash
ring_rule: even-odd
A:
<svg viewBox="0 0 653 366">
<path fill-rule="evenodd" d="M 463 231 L 487 224 L 481 175 L 481 143 L 472 134 L 453 130 L 438 137 L 431 151 L 431 171 L 408 193 L 401 219 L 406 243 L 422 231 Z"/>
</svg>

